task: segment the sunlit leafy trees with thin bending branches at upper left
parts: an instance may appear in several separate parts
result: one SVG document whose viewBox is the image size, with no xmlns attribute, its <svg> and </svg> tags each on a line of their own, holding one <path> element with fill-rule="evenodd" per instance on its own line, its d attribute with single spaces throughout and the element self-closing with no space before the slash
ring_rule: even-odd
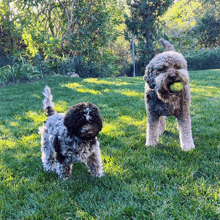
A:
<svg viewBox="0 0 220 220">
<path fill-rule="evenodd" d="M 22 52 L 26 56 L 43 55 L 57 73 L 61 60 L 68 56 L 77 57 L 85 64 L 86 71 L 82 74 L 87 77 L 116 75 L 118 56 L 110 44 L 121 34 L 118 26 L 123 19 L 123 5 L 120 1 L 10 2 L 7 7 L 13 19 L 5 20 L 19 30 L 20 43 L 25 45 Z M 10 29 L 7 25 L 6 28 Z M 4 51 L 7 49 L 10 50 L 6 45 Z"/>
</svg>

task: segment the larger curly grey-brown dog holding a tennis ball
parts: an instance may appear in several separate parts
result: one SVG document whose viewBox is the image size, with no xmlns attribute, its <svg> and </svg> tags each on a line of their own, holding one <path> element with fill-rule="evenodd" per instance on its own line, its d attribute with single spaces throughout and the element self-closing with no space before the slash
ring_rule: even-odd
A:
<svg viewBox="0 0 220 220">
<path fill-rule="evenodd" d="M 144 75 L 147 110 L 146 145 L 156 145 L 166 127 L 166 116 L 177 119 L 183 150 L 194 149 L 190 119 L 190 85 L 187 62 L 175 52 L 169 41 L 160 39 L 165 52 L 157 54 L 147 65 Z M 173 92 L 170 85 L 180 82 L 183 89 Z"/>
</svg>

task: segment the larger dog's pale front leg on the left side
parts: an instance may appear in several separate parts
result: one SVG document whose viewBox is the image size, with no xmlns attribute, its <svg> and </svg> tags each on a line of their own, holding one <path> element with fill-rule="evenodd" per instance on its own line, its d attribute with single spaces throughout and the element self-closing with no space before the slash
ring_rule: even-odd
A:
<svg viewBox="0 0 220 220">
<path fill-rule="evenodd" d="M 147 115 L 147 141 L 146 146 L 155 146 L 158 143 L 158 124 L 159 117 L 152 116 L 151 114 Z"/>
</svg>

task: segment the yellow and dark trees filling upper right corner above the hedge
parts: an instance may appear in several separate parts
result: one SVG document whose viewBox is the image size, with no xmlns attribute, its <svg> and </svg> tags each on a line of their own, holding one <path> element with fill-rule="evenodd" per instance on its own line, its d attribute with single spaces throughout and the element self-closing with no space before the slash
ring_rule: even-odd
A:
<svg viewBox="0 0 220 220">
<path fill-rule="evenodd" d="M 160 18 L 163 34 L 184 55 L 219 45 L 219 1 L 179 0 Z"/>
</svg>

